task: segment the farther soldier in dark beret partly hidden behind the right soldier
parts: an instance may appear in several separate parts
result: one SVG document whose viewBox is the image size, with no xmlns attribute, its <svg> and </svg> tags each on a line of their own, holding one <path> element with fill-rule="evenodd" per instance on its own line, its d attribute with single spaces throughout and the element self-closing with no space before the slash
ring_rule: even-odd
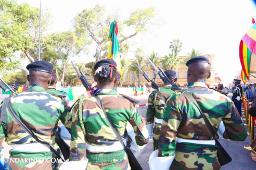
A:
<svg viewBox="0 0 256 170">
<path fill-rule="evenodd" d="M 174 70 L 166 70 L 164 72 L 170 80 L 173 80 L 176 77 L 176 72 Z M 162 89 L 160 89 L 160 93 L 163 95 L 166 100 L 173 91 L 171 90 L 171 84 L 165 84 Z M 147 124 L 154 123 L 153 127 L 153 146 L 154 150 L 158 149 L 158 139 L 160 135 L 160 130 L 163 122 L 163 108 L 165 106 L 165 102 L 163 99 L 157 94 L 156 91 L 153 91 L 148 96 L 148 109 L 147 109 Z"/>
</svg>

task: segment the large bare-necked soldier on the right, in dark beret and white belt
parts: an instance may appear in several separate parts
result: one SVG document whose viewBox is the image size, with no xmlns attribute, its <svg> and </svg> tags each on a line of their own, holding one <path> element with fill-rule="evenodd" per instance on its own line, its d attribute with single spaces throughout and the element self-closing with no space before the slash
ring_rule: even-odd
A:
<svg viewBox="0 0 256 170">
<path fill-rule="evenodd" d="M 238 110 L 229 97 L 208 89 L 210 62 L 197 56 L 187 62 L 187 91 L 195 98 L 213 129 L 217 132 L 221 121 L 226 127 L 223 137 L 244 141 L 247 132 Z M 159 157 L 176 154 L 170 169 L 221 169 L 216 157 L 215 140 L 211 136 L 196 105 L 178 91 L 167 100 L 159 138 Z M 219 134 L 219 133 L 218 133 Z M 219 135 L 215 134 L 216 138 Z"/>
</svg>

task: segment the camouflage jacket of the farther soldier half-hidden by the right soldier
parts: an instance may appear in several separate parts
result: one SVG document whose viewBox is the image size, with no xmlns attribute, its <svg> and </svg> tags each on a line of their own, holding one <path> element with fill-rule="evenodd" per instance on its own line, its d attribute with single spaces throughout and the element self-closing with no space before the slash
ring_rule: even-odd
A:
<svg viewBox="0 0 256 170">
<path fill-rule="evenodd" d="M 163 95 L 165 100 L 173 94 L 171 90 L 171 85 L 165 85 L 162 89 L 160 89 L 160 93 Z M 163 119 L 163 108 L 165 106 L 162 98 L 157 94 L 156 91 L 153 91 L 148 96 L 148 109 L 147 109 L 147 124 L 151 124 L 154 122 L 154 118 Z"/>
</svg>

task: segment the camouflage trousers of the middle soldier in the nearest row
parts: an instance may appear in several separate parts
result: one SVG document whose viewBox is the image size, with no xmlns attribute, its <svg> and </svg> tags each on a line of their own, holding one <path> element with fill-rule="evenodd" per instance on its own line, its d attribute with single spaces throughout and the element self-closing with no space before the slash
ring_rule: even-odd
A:
<svg viewBox="0 0 256 170">
<path fill-rule="evenodd" d="M 120 162 L 92 163 L 88 162 L 86 170 L 129 170 L 131 169 L 128 159 Z"/>
</svg>

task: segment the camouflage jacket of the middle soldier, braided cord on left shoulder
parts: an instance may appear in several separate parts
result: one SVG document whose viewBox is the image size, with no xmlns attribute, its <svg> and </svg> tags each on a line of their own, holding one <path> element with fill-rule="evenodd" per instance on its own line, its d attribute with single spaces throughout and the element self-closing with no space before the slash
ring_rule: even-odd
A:
<svg viewBox="0 0 256 170">
<path fill-rule="evenodd" d="M 136 134 L 136 143 L 140 146 L 147 143 L 148 131 L 142 116 L 140 116 L 135 107 L 135 103 L 119 96 L 116 91 L 110 89 L 100 89 L 96 92 L 96 95 L 100 98 L 109 118 L 117 127 L 123 139 L 126 123 L 129 121 Z M 82 111 L 80 116 L 79 109 Z M 84 159 L 85 141 L 92 146 L 110 146 L 114 143 L 120 143 L 94 96 L 85 98 L 80 108 L 78 102 L 75 103 L 71 114 L 70 161 Z M 103 158 L 102 154 L 99 154 L 101 155 L 100 158 Z M 115 153 L 110 152 L 110 154 L 112 155 L 111 159 L 118 160 Z M 87 153 L 89 162 L 91 162 L 90 155 Z M 123 161 L 123 158 L 124 155 L 122 160 L 119 159 L 119 161 Z M 98 161 L 100 162 L 101 160 L 99 159 Z"/>
</svg>

